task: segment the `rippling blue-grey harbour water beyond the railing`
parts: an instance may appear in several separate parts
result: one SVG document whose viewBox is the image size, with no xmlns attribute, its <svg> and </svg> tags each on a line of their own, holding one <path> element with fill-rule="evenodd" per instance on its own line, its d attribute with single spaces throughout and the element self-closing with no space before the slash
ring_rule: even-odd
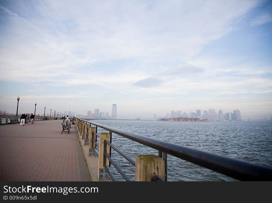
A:
<svg viewBox="0 0 272 203">
<path fill-rule="evenodd" d="M 181 146 L 224 155 L 272 167 L 271 122 L 169 122 L 169 121 L 93 121 L 131 133 L 172 142 Z M 98 128 L 98 133 L 107 132 Z M 130 158 L 158 151 L 113 133 L 112 143 Z M 115 150 L 112 159 L 122 171 L 135 180 L 135 167 Z M 236 181 L 210 169 L 168 154 L 168 181 Z M 123 177 L 112 165 L 110 171 L 117 181 Z"/>
</svg>

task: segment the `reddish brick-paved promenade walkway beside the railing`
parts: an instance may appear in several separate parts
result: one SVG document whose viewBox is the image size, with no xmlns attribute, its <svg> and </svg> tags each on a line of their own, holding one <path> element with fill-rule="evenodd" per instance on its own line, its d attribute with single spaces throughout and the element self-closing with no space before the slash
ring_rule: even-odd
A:
<svg viewBox="0 0 272 203">
<path fill-rule="evenodd" d="M 91 181 L 75 125 L 0 125 L 0 181 Z"/>
</svg>

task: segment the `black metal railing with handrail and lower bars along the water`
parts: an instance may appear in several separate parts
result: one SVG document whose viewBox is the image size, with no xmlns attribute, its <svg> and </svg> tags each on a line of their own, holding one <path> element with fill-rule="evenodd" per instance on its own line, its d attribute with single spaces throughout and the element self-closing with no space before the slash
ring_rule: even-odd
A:
<svg viewBox="0 0 272 203">
<path fill-rule="evenodd" d="M 270 167 L 264 167 L 257 164 L 225 157 L 218 154 L 213 154 L 210 152 L 193 149 L 186 146 L 180 146 L 177 144 L 157 140 L 151 137 L 145 137 L 142 135 L 130 133 L 124 130 L 116 129 L 113 127 L 109 127 L 107 125 L 102 125 L 99 123 L 95 123 L 95 122 L 91 122 L 91 121 L 87 121 L 83 119 L 79 119 L 79 120 L 86 124 L 89 124 L 90 127 L 91 125 L 96 126 L 96 132 L 92 131 L 92 132 L 89 132 L 89 134 L 91 133 L 91 139 L 93 141 L 92 144 L 95 143 L 97 147 L 99 146 L 96 140 L 96 138 L 99 137 L 99 134 L 97 134 L 97 127 L 100 127 L 104 130 L 109 131 L 111 135 L 110 142 L 108 142 L 107 140 L 104 141 L 103 165 L 105 167 L 105 170 L 108 172 L 110 178 L 113 181 L 115 179 L 106 166 L 107 159 L 109 160 L 109 163 L 113 164 L 113 166 L 117 169 L 117 171 L 121 174 L 121 176 L 124 177 L 125 180 L 130 181 L 130 179 L 123 173 L 123 171 L 121 171 L 121 169 L 117 166 L 117 164 L 114 163 L 114 161 L 111 159 L 112 148 L 121 156 L 123 156 L 125 159 L 127 159 L 130 163 L 132 163 L 134 166 L 135 166 L 135 161 L 131 159 L 130 157 L 126 156 L 123 152 L 118 150 L 115 146 L 113 146 L 113 144 L 111 143 L 112 133 L 115 133 L 122 137 L 126 137 L 130 140 L 133 140 L 135 142 L 141 143 L 145 146 L 158 150 L 158 156 L 163 158 L 165 161 L 165 175 L 166 175 L 165 181 L 167 181 L 167 154 L 189 161 L 191 163 L 195 163 L 199 166 L 211 169 L 213 171 L 222 173 L 224 175 L 235 178 L 237 180 L 242 180 L 242 181 L 256 181 L 256 180 L 258 181 L 270 180 L 271 181 L 272 180 L 272 168 Z M 109 154 L 107 154 L 107 145 L 110 146 Z M 91 146 L 91 148 L 95 149 L 96 146 Z M 96 152 L 96 155 L 98 156 L 99 154 Z M 159 179 L 158 177 L 154 176 L 152 177 L 152 180 L 159 180 Z"/>
</svg>

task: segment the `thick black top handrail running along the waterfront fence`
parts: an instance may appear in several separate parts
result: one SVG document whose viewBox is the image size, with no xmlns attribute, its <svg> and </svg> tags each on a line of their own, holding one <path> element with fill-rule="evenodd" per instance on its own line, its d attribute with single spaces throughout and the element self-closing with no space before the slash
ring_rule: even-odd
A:
<svg viewBox="0 0 272 203">
<path fill-rule="evenodd" d="M 229 158 L 186 146 L 180 146 L 83 119 L 80 120 L 180 159 L 220 172 L 237 180 L 272 180 L 272 168 L 270 167 L 260 166 L 243 160 Z"/>
</svg>

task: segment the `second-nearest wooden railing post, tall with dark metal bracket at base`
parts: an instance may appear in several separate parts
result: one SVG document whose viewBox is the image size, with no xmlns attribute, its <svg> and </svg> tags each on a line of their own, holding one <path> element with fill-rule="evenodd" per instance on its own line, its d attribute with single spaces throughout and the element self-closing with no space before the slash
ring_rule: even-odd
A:
<svg viewBox="0 0 272 203">
<path fill-rule="evenodd" d="M 98 173 L 97 178 L 98 180 L 109 180 L 109 175 L 104 168 L 103 161 L 104 161 L 104 140 L 110 142 L 110 134 L 109 133 L 100 133 L 99 134 L 99 154 L 98 154 Z M 110 146 L 107 145 L 107 154 L 109 154 Z M 109 160 L 106 161 L 106 166 L 108 168 Z"/>
</svg>

